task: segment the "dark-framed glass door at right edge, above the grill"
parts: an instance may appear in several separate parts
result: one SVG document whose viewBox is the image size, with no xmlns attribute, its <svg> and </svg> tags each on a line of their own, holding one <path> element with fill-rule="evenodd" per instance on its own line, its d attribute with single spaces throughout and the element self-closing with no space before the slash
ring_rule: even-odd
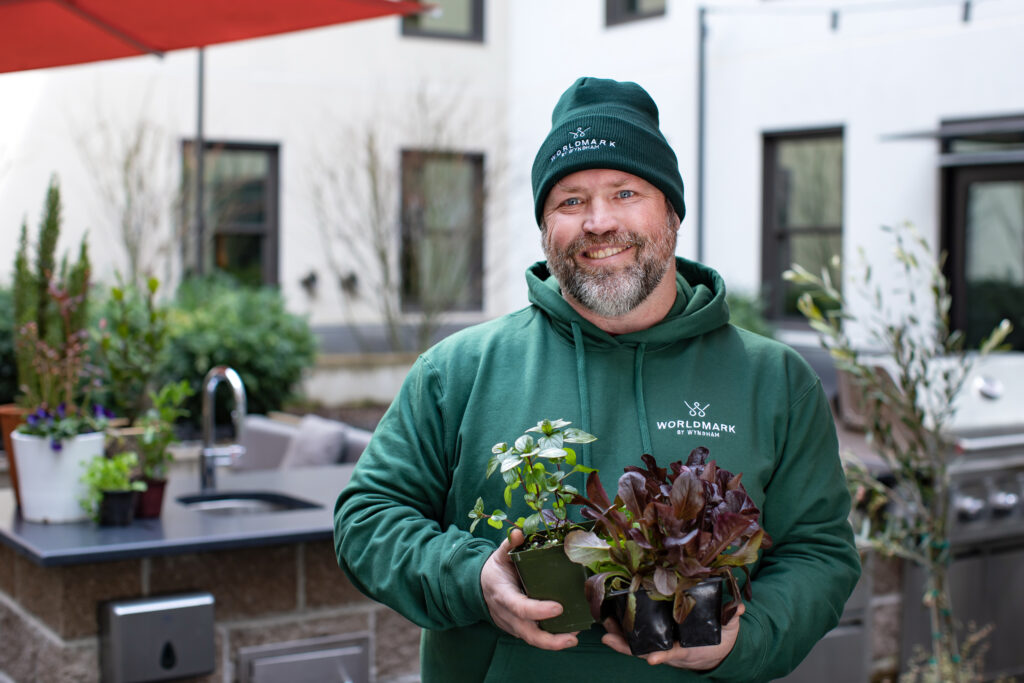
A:
<svg viewBox="0 0 1024 683">
<path fill-rule="evenodd" d="M 1024 117 L 946 122 L 939 138 L 952 325 L 977 346 L 1008 318 L 1024 350 Z"/>
</svg>

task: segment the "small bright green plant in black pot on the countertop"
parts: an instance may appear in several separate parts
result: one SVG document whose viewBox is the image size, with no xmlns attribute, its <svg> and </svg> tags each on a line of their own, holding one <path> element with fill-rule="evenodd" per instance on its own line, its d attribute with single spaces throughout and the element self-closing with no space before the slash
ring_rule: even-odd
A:
<svg viewBox="0 0 1024 683">
<path fill-rule="evenodd" d="M 82 482 L 86 495 L 79 503 L 100 526 L 126 526 L 132 522 L 135 498 L 145 490 L 145 482 L 132 478 L 136 465 L 138 457 L 131 452 L 113 458 L 99 455 L 85 463 Z"/>
</svg>

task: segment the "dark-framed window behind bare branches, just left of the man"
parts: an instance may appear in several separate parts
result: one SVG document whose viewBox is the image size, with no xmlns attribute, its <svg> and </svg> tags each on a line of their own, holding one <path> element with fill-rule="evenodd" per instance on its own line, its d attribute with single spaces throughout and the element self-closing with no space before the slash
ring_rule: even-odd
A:
<svg viewBox="0 0 1024 683">
<path fill-rule="evenodd" d="M 401 153 L 401 309 L 483 307 L 483 155 Z"/>
</svg>

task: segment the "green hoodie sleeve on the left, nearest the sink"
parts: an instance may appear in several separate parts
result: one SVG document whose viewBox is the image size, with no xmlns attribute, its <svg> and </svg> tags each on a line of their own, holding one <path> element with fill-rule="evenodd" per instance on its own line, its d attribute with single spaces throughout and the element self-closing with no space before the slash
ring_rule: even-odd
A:
<svg viewBox="0 0 1024 683">
<path fill-rule="evenodd" d="M 454 449 L 443 398 L 436 370 L 421 356 L 334 513 L 338 564 L 352 584 L 427 629 L 489 618 L 480 569 L 495 550 L 443 526 Z"/>
</svg>

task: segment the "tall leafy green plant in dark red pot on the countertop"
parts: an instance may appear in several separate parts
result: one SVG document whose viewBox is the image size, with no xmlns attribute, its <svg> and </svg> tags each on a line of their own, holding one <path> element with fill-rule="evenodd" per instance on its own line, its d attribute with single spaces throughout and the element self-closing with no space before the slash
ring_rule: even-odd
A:
<svg viewBox="0 0 1024 683">
<path fill-rule="evenodd" d="M 164 503 L 164 488 L 167 485 L 167 468 L 174 460 L 170 451 L 177 443 L 174 424 L 188 415 L 181 408 L 193 394 L 187 380 L 165 384 L 158 392 L 150 392 L 153 403 L 139 419 L 139 433 L 132 439 L 136 452 L 140 454 L 141 480 L 146 488 L 138 496 L 135 516 L 139 518 L 159 517 Z"/>
</svg>

